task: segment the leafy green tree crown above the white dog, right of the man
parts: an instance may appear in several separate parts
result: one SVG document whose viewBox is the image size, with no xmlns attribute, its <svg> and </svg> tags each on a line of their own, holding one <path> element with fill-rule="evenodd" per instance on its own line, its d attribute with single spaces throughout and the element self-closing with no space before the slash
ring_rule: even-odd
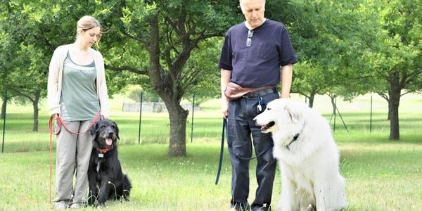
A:
<svg viewBox="0 0 422 211">
<path fill-rule="evenodd" d="M 293 71 L 292 92 L 313 106 L 316 94 L 352 98 L 365 93 L 362 64 L 354 42 L 359 39 L 360 1 L 283 1 L 283 12 L 270 13 L 285 23 L 299 58 Z M 335 15 L 333 15 L 335 14 Z M 347 91 L 345 91 L 347 90 Z"/>
</svg>

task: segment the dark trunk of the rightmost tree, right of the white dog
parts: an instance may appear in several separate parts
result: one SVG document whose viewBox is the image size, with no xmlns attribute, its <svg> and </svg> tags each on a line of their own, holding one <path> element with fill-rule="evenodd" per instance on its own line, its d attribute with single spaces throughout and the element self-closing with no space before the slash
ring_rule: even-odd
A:
<svg viewBox="0 0 422 211">
<path fill-rule="evenodd" d="M 388 116 L 390 117 L 390 140 L 400 139 L 399 129 L 399 104 L 401 89 L 398 74 L 392 74 L 390 81 L 390 101 L 388 101 Z"/>
</svg>

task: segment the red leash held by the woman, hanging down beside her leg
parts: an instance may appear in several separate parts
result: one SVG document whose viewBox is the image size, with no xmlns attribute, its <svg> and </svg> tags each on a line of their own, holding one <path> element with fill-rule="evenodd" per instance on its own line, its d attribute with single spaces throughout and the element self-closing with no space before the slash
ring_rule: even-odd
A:
<svg viewBox="0 0 422 211">
<path fill-rule="evenodd" d="M 54 134 L 57 135 L 57 134 L 60 133 L 60 130 L 61 130 L 61 126 L 62 125 L 71 134 L 75 134 L 75 135 L 84 134 L 84 133 L 88 132 L 89 129 L 91 129 L 92 125 L 94 125 L 95 122 L 98 120 L 98 117 L 100 117 L 100 114 L 101 114 L 101 110 L 98 110 L 98 113 L 96 113 L 96 115 L 95 115 L 94 119 L 92 120 L 91 125 L 89 125 L 88 129 L 86 131 L 80 132 L 80 133 L 70 131 L 70 129 L 68 129 L 68 127 L 66 126 L 65 122 L 63 122 L 63 120 L 60 118 L 60 115 L 57 115 L 57 118 L 56 118 L 56 121 L 57 122 L 56 122 L 56 124 L 58 126 L 58 132 L 55 132 Z M 52 142 L 53 142 L 52 141 L 53 140 L 53 138 L 52 138 L 52 136 L 53 136 L 53 118 L 54 117 L 51 116 L 50 117 L 50 120 L 49 120 L 49 131 L 50 131 L 50 188 L 49 188 L 49 203 L 50 204 L 51 204 L 51 183 L 52 183 L 52 177 L 53 177 L 53 155 L 52 155 L 52 151 L 53 151 L 52 150 L 52 145 L 53 145 L 52 144 Z"/>
</svg>

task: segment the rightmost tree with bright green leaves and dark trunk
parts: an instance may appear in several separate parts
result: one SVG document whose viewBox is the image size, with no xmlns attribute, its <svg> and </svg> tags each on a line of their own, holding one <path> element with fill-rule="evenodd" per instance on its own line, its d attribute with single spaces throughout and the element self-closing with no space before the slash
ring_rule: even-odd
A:
<svg viewBox="0 0 422 211">
<path fill-rule="evenodd" d="M 399 140 L 399 102 L 404 94 L 422 90 L 422 5 L 418 1 L 373 1 L 366 10 L 368 34 L 363 58 L 383 83 L 378 94 L 388 101 L 390 140 Z M 403 93 L 402 93 L 403 92 Z"/>
</svg>

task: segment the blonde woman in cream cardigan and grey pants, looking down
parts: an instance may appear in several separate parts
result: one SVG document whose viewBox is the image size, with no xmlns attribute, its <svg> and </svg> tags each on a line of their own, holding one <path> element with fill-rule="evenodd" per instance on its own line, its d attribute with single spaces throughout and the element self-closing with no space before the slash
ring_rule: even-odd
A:
<svg viewBox="0 0 422 211">
<path fill-rule="evenodd" d="M 91 49 L 100 37 L 98 20 L 84 16 L 77 22 L 75 43 L 59 46 L 51 58 L 49 110 L 56 121 L 62 122 L 56 124 L 56 209 L 84 205 L 92 150 L 88 131 L 98 115 L 108 117 L 104 60 L 100 52 Z"/>
</svg>

